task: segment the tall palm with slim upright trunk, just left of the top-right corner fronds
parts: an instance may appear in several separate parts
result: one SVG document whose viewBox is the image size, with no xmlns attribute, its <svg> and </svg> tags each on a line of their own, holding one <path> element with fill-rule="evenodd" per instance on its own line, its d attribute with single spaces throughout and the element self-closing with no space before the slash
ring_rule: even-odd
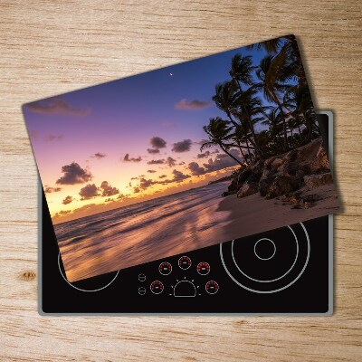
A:
<svg viewBox="0 0 362 362">
<path fill-rule="evenodd" d="M 275 67 L 272 67 L 274 59 L 275 58 L 271 55 L 266 55 L 264 58 L 262 58 L 259 68 L 255 72 L 259 82 L 254 84 L 254 88 L 257 90 L 262 90 L 265 99 L 272 101 L 278 106 L 283 126 L 283 147 L 284 151 L 287 151 L 289 148 L 287 121 L 284 115 L 282 101 L 279 99 L 279 97 L 280 94 L 290 86 L 288 84 L 281 83 L 281 81 L 278 79 L 279 77 L 274 75 L 274 72 L 276 72 L 277 74 L 281 74 L 282 72 L 281 70 L 276 70 Z"/>
</svg>

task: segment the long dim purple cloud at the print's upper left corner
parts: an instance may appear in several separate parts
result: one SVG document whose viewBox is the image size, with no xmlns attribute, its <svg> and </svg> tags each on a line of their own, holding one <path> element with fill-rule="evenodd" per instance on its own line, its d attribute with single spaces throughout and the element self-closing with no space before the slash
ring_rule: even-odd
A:
<svg viewBox="0 0 362 362">
<path fill-rule="evenodd" d="M 74 108 L 68 102 L 59 97 L 49 100 L 34 101 L 32 103 L 25 104 L 24 107 L 26 110 L 30 110 L 33 113 L 45 115 L 84 117 L 90 113 L 90 108 Z"/>
</svg>

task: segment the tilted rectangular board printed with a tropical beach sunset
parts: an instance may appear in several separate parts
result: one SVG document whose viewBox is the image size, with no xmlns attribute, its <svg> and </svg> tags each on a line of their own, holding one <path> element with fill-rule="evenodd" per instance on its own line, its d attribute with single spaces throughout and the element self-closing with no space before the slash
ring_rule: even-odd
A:
<svg viewBox="0 0 362 362">
<path fill-rule="evenodd" d="M 279 38 L 24 105 L 69 281 L 337 210 L 328 160 L 300 166 L 304 184 L 298 170 L 268 176 L 274 184 L 279 174 L 295 177 L 279 184 L 290 186 L 282 195 L 301 190 L 300 207 L 262 195 L 271 157 L 323 157 L 293 42 Z M 303 206 L 303 190 L 316 195 L 313 207 Z"/>
</svg>

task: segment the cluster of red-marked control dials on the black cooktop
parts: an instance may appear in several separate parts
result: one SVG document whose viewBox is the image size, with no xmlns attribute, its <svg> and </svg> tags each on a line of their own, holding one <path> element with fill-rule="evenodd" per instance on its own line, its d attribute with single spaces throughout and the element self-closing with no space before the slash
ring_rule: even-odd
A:
<svg viewBox="0 0 362 362">
<path fill-rule="evenodd" d="M 213 295 L 219 291 L 217 281 L 209 278 L 209 262 L 194 262 L 187 255 L 181 256 L 176 265 L 163 261 L 152 273 L 138 274 L 138 294 L 190 298 Z"/>
</svg>

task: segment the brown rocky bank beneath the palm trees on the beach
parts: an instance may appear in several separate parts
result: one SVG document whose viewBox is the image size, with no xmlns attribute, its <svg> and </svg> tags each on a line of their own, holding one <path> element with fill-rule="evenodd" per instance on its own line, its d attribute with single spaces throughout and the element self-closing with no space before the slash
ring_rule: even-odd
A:
<svg viewBox="0 0 362 362">
<path fill-rule="evenodd" d="M 274 198 L 291 195 L 300 187 L 313 189 L 331 182 L 327 153 L 318 138 L 308 145 L 243 168 L 223 195 L 246 197 L 259 192 L 263 197 Z M 309 205 L 305 200 L 300 203 L 298 207 Z"/>
</svg>

